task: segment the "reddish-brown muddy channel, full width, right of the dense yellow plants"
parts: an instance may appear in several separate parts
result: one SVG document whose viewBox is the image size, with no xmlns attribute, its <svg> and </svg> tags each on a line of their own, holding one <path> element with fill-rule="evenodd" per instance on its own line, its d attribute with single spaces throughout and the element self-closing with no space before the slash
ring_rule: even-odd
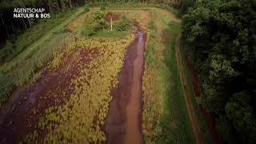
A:
<svg viewBox="0 0 256 144">
<path fill-rule="evenodd" d="M 126 52 L 118 87 L 112 90 L 113 100 L 106 118 L 106 143 L 139 144 L 143 142 L 141 130 L 142 73 L 146 34 L 138 30 L 134 42 Z"/>
</svg>

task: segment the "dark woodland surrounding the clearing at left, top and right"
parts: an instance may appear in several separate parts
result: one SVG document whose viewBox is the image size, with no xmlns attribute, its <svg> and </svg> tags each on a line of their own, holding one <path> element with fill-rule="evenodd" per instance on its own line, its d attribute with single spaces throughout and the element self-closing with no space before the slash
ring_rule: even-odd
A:
<svg viewBox="0 0 256 144">
<path fill-rule="evenodd" d="M 183 43 L 198 71 L 202 89 L 199 103 L 210 110 L 226 142 L 256 142 L 255 0 L 2 0 L 0 65 L 30 44 L 21 40 L 19 46 L 18 38 L 24 31 L 46 21 L 14 19 L 14 7 L 44 7 L 58 18 L 76 6 L 113 2 L 160 3 L 178 9 Z"/>
</svg>

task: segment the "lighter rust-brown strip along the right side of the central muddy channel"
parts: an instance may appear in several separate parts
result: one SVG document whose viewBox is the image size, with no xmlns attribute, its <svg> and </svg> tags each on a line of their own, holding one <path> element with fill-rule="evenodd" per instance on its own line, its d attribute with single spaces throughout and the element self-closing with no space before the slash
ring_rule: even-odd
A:
<svg viewBox="0 0 256 144">
<path fill-rule="evenodd" d="M 125 143 L 142 143 L 142 134 L 140 129 L 139 117 L 142 111 L 142 72 L 143 72 L 143 54 L 144 42 L 143 35 L 138 32 L 138 43 L 135 45 L 137 57 L 134 59 L 134 70 L 132 77 L 132 86 L 130 87 L 130 101 L 126 107 L 127 124 Z"/>
</svg>

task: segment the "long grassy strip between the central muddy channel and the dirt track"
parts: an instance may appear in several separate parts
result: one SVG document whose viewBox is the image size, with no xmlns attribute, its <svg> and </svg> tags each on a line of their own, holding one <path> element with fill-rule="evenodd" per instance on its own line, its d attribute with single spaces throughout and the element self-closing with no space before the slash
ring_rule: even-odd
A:
<svg viewBox="0 0 256 144">
<path fill-rule="evenodd" d="M 147 143 L 194 143 L 175 60 L 180 21 L 167 10 L 150 9 L 150 39 L 143 75 L 143 134 Z"/>
</svg>

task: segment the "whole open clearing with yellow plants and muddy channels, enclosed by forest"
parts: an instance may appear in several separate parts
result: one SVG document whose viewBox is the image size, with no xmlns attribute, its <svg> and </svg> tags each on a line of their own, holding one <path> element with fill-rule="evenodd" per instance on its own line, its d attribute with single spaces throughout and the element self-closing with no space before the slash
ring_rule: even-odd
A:
<svg viewBox="0 0 256 144">
<path fill-rule="evenodd" d="M 90 31 L 106 14 L 118 15 L 114 30 L 106 20 Z M 156 7 L 76 10 L 0 67 L 26 71 L 31 58 L 41 62 L 42 45 L 63 41 L 13 89 L 0 143 L 205 143 L 175 54 L 180 23 Z"/>
</svg>

